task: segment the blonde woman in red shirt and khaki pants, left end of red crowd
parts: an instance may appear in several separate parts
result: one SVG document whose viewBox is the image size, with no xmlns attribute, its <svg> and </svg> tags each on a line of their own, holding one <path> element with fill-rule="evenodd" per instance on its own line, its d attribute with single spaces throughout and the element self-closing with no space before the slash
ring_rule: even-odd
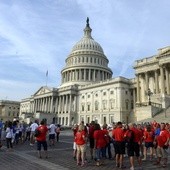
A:
<svg viewBox="0 0 170 170">
<path fill-rule="evenodd" d="M 80 124 L 78 127 L 78 131 L 75 135 L 75 141 L 77 146 L 77 165 L 80 165 L 81 158 L 81 166 L 84 166 L 85 160 L 85 152 L 86 152 L 86 132 L 84 131 L 84 125 Z"/>
</svg>

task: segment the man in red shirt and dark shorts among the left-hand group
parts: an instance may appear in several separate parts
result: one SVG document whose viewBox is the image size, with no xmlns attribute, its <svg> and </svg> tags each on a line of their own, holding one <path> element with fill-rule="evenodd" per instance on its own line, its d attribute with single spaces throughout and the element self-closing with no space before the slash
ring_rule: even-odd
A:
<svg viewBox="0 0 170 170">
<path fill-rule="evenodd" d="M 39 158 L 42 158 L 42 156 L 41 156 L 41 145 L 42 145 L 44 148 L 45 158 L 47 158 L 48 155 L 47 155 L 46 136 L 47 136 L 48 128 L 46 126 L 45 120 L 41 121 L 40 126 L 37 128 L 37 130 L 39 131 L 39 135 L 36 137 L 38 156 L 39 156 Z"/>
</svg>

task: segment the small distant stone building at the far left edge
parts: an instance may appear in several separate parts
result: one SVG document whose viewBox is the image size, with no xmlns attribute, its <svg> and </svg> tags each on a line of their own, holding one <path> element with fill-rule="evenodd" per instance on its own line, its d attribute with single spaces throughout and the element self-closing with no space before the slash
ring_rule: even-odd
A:
<svg viewBox="0 0 170 170">
<path fill-rule="evenodd" d="M 19 118 L 20 102 L 0 100 L 0 119 L 3 121 Z"/>
</svg>

